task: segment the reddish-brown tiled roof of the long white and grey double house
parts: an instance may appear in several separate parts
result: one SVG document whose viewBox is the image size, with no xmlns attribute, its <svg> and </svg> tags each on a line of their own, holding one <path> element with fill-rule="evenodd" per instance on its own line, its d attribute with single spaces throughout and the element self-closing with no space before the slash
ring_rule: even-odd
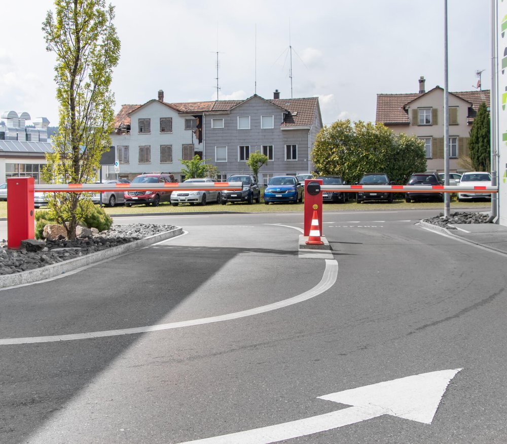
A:
<svg viewBox="0 0 507 444">
<path fill-rule="evenodd" d="M 228 112 L 232 108 L 241 105 L 245 100 L 215 100 L 203 102 L 165 103 L 183 114 L 220 113 Z M 311 126 L 318 110 L 318 97 L 286 98 L 268 100 L 273 105 L 289 111 L 285 116 L 282 126 Z M 130 125 L 131 112 L 142 105 L 122 105 L 120 112 L 115 117 L 115 129 L 120 126 Z"/>
</svg>

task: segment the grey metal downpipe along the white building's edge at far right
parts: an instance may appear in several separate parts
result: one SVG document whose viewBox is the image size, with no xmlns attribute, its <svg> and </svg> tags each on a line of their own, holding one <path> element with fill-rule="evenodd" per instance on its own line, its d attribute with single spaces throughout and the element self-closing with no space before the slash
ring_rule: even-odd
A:
<svg viewBox="0 0 507 444">
<path fill-rule="evenodd" d="M 496 88 L 496 1 L 491 0 L 491 91 L 490 91 L 490 140 L 491 140 L 491 185 L 498 186 L 498 156 L 497 156 L 497 88 Z M 498 215 L 498 197 L 496 193 L 491 194 L 491 216 L 493 221 Z"/>
</svg>

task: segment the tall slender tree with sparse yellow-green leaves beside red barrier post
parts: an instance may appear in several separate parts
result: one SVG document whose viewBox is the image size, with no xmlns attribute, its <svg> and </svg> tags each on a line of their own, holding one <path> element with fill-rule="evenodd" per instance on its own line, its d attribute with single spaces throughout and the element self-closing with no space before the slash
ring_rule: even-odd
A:
<svg viewBox="0 0 507 444">
<path fill-rule="evenodd" d="M 87 183 L 96 179 L 100 156 L 111 145 L 114 94 L 110 85 L 120 58 L 114 7 L 106 7 L 104 0 L 55 0 L 55 8 L 54 15 L 48 11 L 42 30 L 46 49 L 56 56 L 59 123 L 43 178 L 48 183 Z M 81 193 L 53 193 L 49 199 L 70 239 L 89 212 L 89 198 Z"/>
</svg>

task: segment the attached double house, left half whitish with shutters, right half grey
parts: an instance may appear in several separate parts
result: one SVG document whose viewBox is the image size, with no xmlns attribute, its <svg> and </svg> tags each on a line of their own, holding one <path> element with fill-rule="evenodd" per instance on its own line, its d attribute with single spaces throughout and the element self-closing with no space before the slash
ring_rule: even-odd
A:
<svg viewBox="0 0 507 444">
<path fill-rule="evenodd" d="M 155 126 L 169 117 L 172 131 L 163 134 Z M 149 124 L 149 132 L 139 122 Z M 231 175 L 248 173 L 246 161 L 250 153 L 259 151 L 269 159 L 259 171 L 262 183 L 273 176 L 310 172 L 310 152 L 321 127 L 317 97 L 281 99 L 275 91 L 273 99 L 254 94 L 245 100 L 166 103 L 159 91 L 158 100 L 122 106 L 112 145 L 120 177 L 130 179 L 143 172 L 164 171 L 184 180 L 179 159 L 197 154 L 218 168 L 218 180 L 226 181 Z M 163 144 L 171 147 L 170 162 L 160 160 Z M 144 155 L 147 146 L 149 159 Z"/>
</svg>

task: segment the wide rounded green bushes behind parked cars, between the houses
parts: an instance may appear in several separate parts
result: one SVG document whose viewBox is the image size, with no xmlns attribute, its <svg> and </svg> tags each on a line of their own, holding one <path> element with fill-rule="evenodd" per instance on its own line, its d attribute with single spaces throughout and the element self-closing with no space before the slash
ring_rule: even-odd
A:
<svg viewBox="0 0 507 444">
<path fill-rule="evenodd" d="M 311 158 L 319 175 L 339 175 L 349 184 L 365 173 L 386 173 L 403 184 L 413 172 L 426 170 L 424 143 L 381 123 L 341 120 L 324 126 Z"/>
</svg>

